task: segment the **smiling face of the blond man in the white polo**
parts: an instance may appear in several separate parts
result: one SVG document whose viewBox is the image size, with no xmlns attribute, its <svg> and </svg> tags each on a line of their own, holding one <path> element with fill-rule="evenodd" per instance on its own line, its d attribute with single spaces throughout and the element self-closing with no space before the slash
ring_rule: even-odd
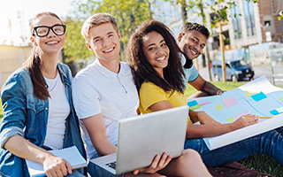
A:
<svg viewBox="0 0 283 177">
<path fill-rule="evenodd" d="M 89 50 L 93 50 L 101 63 L 119 60 L 121 36 L 111 23 L 92 27 L 89 32 Z"/>
</svg>

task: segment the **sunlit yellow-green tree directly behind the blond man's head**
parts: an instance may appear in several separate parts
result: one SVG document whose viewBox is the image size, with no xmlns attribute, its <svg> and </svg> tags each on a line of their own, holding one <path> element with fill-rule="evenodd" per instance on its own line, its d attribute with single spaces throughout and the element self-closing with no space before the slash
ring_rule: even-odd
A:
<svg viewBox="0 0 283 177">
<path fill-rule="evenodd" d="M 72 14 L 67 17 L 67 38 L 65 45 L 65 55 L 73 60 L 87 59 L 93 55 L 85 46 L 85 40 L 80 35 L 80 29 L 88 17 L 97 13 L 106 12 L 113 15 L 118 23 L 121 33 L 121 60 L 125 59 L 126 43 L 129 35 L 142 21 L 149 20 L 150 3 L 148 0 L 103 0 L 87 2 L 77 2 Z"/>
</svg>

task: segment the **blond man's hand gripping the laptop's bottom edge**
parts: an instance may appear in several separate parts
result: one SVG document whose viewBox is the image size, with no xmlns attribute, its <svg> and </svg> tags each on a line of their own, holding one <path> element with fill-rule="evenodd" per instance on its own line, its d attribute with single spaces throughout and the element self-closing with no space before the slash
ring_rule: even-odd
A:
<svg viewBox="0 0 283 177">
<path fill-rule="evenodd" d="M 134 170 L 133 173 L 134 175 L 137 175 L 138 173 L 157 173 L 157 171 L 164 169 L 164 167 L 168 165 L 171 160 L 172 156 L 169 156 L 167 152 L 164 152 L 161 157 L 157 154 L 153 159 L 151 165 Z"/>
</svg>

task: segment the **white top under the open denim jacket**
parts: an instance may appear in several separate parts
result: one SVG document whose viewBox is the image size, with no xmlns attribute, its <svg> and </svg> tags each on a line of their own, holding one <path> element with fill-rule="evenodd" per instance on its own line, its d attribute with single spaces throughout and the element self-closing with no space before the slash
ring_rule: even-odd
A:
<svg viewBox="0 0 283 177">
<path fill-rule="evenodd" d="M 60 74 L 57 73 L 55 79 L 44 78 L 49 97 L 49 114 L 47 132 L 44 140 L 44 145 L 53 150 L 63 148 L 63 140 L 65 135 L 65 119 L 71 112 L 67 96 L 65 96 L 65 86 L 61 81 Z"/>
</svg>

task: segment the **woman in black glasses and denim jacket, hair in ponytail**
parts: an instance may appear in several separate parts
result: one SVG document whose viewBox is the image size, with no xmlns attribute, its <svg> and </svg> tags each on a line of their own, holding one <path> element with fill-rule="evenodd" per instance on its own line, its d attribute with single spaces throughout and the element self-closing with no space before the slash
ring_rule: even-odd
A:
<svg viewBox="0 0 283 177">
<path fill-rule="evenodd" d="M 84 176 L 84 169 L 72 171 L 65 159 L 47 151 L 74 145 L 86 155 L 73 110 L 72 74 L 58 63 L 65 25 L 56 14 L 42 12 L 32 20 L 31 31 L 34 49 L 1 93 L 0 176 L 29 176 L 25 159 L 41 163 L 47 176 Z"/>
</svg>

